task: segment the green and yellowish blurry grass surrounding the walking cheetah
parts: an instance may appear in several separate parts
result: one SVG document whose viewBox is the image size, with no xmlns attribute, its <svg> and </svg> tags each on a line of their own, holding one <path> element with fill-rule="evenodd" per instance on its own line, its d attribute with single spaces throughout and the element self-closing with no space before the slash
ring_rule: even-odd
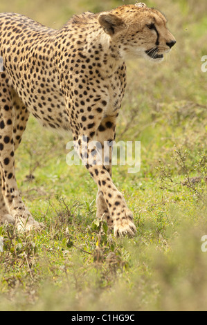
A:
<svg viewBox="0 0 207 325">
<path fill-rule="evenodd" d="M 123 1 L 53 3 L 47 10 L 46 0 L 1 1 L 0 10 L 59 27 L 73 13 Z M 30 118 L 17 180 L 46 228 L 19 234 L 0 226 L 0 310 L 206 310 L 206 1 L 148 4 L 165 12 L 177 45 L 162 64 L 128 62 L 117 140 L 141 140 L 141 171 L 114 166 L 113 178 L 138 233 L 116 239 L 96 221 L 96 184 L 84 167 L 66 165 L 71 136 Z"/>
</svg>

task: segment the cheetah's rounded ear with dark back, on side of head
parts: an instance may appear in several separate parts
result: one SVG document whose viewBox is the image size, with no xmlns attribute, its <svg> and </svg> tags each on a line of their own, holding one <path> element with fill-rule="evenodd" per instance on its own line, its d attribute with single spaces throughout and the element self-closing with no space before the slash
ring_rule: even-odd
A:
<svg viewBox="0 0 207 325">
<path fill-rule="evenodd" d="M 98 16 L 100 26 L 108 35 L 114 35 L 116 28 L 123 24 L 123 20 L 109 12 L 102 12 Z"/>
</svg>

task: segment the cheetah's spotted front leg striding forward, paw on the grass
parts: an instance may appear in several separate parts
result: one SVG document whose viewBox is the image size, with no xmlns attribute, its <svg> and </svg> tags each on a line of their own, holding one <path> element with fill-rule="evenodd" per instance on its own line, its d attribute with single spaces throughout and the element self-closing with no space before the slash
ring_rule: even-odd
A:
<svg viewBox="0 0 207 325">
<path fill-rule="evenodd" d="M 82 127 L 85 130 L 80 130 L 78 137 L 76 136 L 78 132 L 75 132 L 75 146 L 78 148 L 78 150 L 80 150 L 80 157 L 84 160 L 89 173 L 98 185 L 98 204 L 102 205 L 98 206 L 98 212 L 100 214 L 102 211 L 106 214 L 109 212 L 109 219 L 111 217 L 114 222 L 115 236 L 134 236 L 136 233 L 136 227 L 133 223 L 133 214 L 127 207 L 123 194 L 118 191 L 113 181 L 111 180 L 111 167 L 109 167 L 109 170 L 107 170 L 107 167 L 104 165 L 104 163 L 100 163 L 100 158 L 98 158 L 98 150 L 91 149 L 90 145 L 91 140 L 98 140 L 96 139 L 96 134 L 99 133 L 102 127 L 105 127 L 109 133 L 110 129 L 115 129 L 115 119 L 111 121 L 104 119 L 102 122 L 99 122 L 98 125 L 95 121 L 96 120 L 94 119 L 93 124 L 82 123 Z M 90 130 L 87 130 L 87 127 Z M 84 152 L 82 149 L 84 149 Z M 100 194 L 102 194 L 102 196 L 100 196 Z M 106 205 L 104 205 L 103 199 L 105 200 Z"/>
</svg>

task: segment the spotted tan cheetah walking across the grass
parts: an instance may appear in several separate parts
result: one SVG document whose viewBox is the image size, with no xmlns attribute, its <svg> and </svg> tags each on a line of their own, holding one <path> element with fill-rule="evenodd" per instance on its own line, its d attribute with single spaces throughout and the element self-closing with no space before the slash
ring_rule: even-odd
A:
<svg viewBox="0 0 207 325">
<path fill-rule="evenodd" d="M 166 22 L 145 3 L 74 15 L 60 30 L 24 15 L 0 14 L 1 223 L 26 231 L 42 227 L 24 205 L 15 178 L 15 151 L 29 115 L 43 127 L 71 130 L 79 147 L 113 141 L 126 87 L 125 60 L 161 62 L 176 43 Z M 115 236 L 134 236 L 133 214 L 111 179 L 111 151 L 109 164 L 85 165 L 98 185 L 96 216 L 114 226 Z"/>
</svg>

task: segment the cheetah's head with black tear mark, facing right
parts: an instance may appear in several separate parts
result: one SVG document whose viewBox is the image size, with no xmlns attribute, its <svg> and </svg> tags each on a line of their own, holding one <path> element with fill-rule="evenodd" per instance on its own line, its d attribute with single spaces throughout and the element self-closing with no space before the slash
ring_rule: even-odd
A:
<svg viewBox="0 0 207 325">
<path fill-rule="evenodd" d="M 139 56 L 161 62 L 164 54 L 170 52 L 176 43 L 166 26 L 165 17 L 145 3 L 101 12 L 98 21 L 111 37 L 111 44 L 119 48 L 123 59 Z"/>
</svg>

